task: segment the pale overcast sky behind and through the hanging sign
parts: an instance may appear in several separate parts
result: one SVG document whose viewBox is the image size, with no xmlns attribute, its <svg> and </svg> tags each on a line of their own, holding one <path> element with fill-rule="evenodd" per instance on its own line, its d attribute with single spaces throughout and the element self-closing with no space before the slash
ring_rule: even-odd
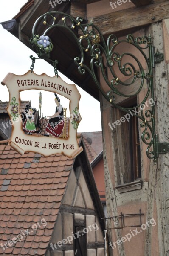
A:
<svg viewBox="0 0 169 256">
<path fill-rule="evenodd" d="M 47 1 L 47 0 L 46 0 Z M 0 22 L 11 20 L 20 10 L 20 8 L 27 2 L 27 0 L 8 0 L 2 1 L 0 8 Z M 17 75 L 25 74 L 31 66 L 30 55 L 37 57 L 37 55 L 15 38 L 11 33 L 3 29 L 0 25 L 0 81 L 2 81 L 7 73 L 11 72 Z M 53 67 L 43 60 L 37 60 L 34 66 L 34 72 L 37 74 L 46 73 L 48 76 L 54 76 Z M 69 84 L 72 81 L 67 79 L 61 73 L 59 76 Z M 101 114 L 100 104 L 88 93 L 78 87 L 81 94 L 79 104 L 79 112 L 82 116 L 78 132 L 101 131 Z M 32 107 L 39 109 L 39 90 L 28 90 L 21 92 L 21 100 L 31 100 Z M 46 116 L 54 114 L 56 105 L 51 100 L 51 93 L 42 91 L 42 113 Z M 62 106 L 68 107 L 69 101 L 60 97 Z M 8 101 L 9 95 L 6 86 L 0 84 L 0 100 Z"/>
</svg>

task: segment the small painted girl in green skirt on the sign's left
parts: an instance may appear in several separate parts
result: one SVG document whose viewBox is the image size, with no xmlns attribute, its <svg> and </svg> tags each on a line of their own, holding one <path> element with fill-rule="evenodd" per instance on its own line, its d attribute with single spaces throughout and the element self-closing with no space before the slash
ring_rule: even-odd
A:
<svg viewBox="0 0 169 256">
<path fill-rule="evenodd" d="M 26 120 L 23 123 L 23 130 L 27 132 L 27 134 L 32 134 L 36 131 L 36 127 L 34 124 L 34 115 L 36 113 L 36 108 L 31 108 L 28 104 L 25 105 L 25 115 Z"/>
</svg>

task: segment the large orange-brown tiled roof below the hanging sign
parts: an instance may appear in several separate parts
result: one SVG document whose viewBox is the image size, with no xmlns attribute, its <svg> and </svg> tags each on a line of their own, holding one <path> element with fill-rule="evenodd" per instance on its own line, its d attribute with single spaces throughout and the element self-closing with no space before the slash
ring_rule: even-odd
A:
<svg viewBox="0 0 169 256">
<path fill-rule="evenodd" d="M 0 144 L 0 244 L 31 232 L 5 251 L 0 247 L 0 256 L 45 256 L 72 166 L 65 156 L 20 156 Z M 31 229 L 42 219 L 46 226 Z"/>
</svg>

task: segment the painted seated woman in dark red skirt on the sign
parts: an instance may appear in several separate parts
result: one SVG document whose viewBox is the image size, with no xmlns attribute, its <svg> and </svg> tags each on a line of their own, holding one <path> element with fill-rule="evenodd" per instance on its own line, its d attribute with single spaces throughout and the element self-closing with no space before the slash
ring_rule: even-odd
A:
<svg viewBox="0 0 169 256">
<path fill-rule="evenodd" d="M 53 135 L 54 137 L 59 137 L 62 133 L 64 127 L 64 116 L 63 116 L 63 107 L 60 105 L 60 99 L 58 98 L 57 94 L 55 93 L 55 103 L 57 105 L 56 111 L 53 116 L 48 116 L 49 121 L 46 126 L 44 136 L 49 136 L 49 134 Z"/>
</svg>

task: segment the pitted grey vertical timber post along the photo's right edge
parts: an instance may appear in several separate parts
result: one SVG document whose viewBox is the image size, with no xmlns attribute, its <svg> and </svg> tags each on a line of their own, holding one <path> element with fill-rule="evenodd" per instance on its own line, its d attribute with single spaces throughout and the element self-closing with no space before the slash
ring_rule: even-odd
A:
<svg viewBox="0 0 169 256">
<path fill-rule="evenodd" d="M 152 36 L 154 38 L 155 49 L 163 49 L 163 28 L 162 24 L 158 23 L 152 25 Z M 165 34 L 164 34 L 165 35 Z M 165 76 L 161 76 L 161 70 L 166 73 Z M 157 134 L 159 134 L 160 142 L 169 142 L 168 128 L 169 128 L 169 67 L 165 61 L 155 64 L 154 73 L 154 90 L 157 99 L 155 106 L 156 114 L 156 127 Z M 167 255 L 169 252 L 169 153 L 160 154 L 158 158 L 158 168 L 156 169 L 156 180 L 155 180 L 155 201 L 157 204 L 157 220 L 158 220 L 158 244 L 159 244 L 159 255 Z M 155 174 L 155 172 L 154 172 Z M 149 180 L 150 181 L 150 180 Z M 153 182 L 153 181 L 152 181 Z M 152 184 L 154 186 L 154 184 Z M 151 189 L 151 187 L 149 188 Z M 149 191 L 150 192 L 150 191 Z M 151 207 L 151 205 L 150 205 Z M 147 210 L 150 209 L 147 208 Z M 148 211 L 147 211 L 148 212 Z M 154 210 L 155 212 L 155 210 Z M 148 231 L 148 230 L 147 230 Z M 152 234 L 153 237 L 153 234 Z M 150 238 L 151 239 L 151 238 Z M 149 241 L 152 241 L 150 240 Z M 148 243 L 149 243 L 148 241 Z M 149 249 L 149 248 L 148 248 Z M 149 252 L 148 252 L 149 253 Z M 146 252 L 145 254 L 146 255 Z"/>
</svg>

